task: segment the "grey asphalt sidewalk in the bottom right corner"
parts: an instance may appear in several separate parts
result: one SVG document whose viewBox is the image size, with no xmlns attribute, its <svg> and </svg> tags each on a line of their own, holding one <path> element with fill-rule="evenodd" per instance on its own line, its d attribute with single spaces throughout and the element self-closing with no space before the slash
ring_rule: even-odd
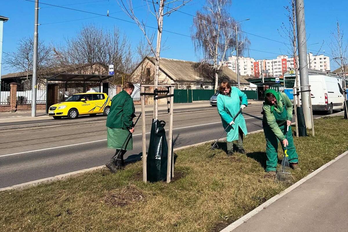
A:
<svg viewBox="0 0 348 232">
<path fill-rule="evenodd" d="M 348 155 L 343 156 L 233 232 L 347 231 Z"/>
</svg>

